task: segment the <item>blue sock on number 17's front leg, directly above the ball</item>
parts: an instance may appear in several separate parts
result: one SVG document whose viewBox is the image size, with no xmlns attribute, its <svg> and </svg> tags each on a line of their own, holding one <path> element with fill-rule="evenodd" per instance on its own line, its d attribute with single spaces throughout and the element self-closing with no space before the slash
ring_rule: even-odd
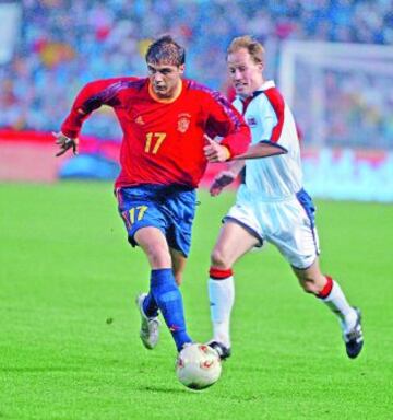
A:
<svg viewBox="0 0 393 420">
<path fill-rule="evenodd" d="M 152 270 L 151 293 L 154 296 L 166 325 L 180 351 L 186 342 L 192 342 L 186 330 L 181 293 L 171 268 Z"/>
</svg>

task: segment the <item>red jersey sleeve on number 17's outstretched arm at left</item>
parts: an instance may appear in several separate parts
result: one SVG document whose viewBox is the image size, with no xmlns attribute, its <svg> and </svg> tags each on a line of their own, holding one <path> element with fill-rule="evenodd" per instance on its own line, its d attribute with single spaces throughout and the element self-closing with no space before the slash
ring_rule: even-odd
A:
<svg viewBox="0 0 393 420">
<path fill-rule="evenodd" d="M 61 132 L 67 137 L 76 138 L 90 114 L 102 105 L 119 105 L 118 93 L 127 88 L 129 81 L 135 79 L 117 78 L 87 83 L 76 95 L 70 114 L 61 125 Z"/>
</svg>

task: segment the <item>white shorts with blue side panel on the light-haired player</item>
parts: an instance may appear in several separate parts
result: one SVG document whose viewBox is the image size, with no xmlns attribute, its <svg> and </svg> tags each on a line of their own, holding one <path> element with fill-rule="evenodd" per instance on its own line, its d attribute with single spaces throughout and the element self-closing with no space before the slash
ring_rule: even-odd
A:
<svg viewBox="0 0 393 420">
<path fill-rule="evenodd" d="M 240 194 L 224 221 L 243 226 L 260 240 L 260 246 L 274 244 L 293 267 L 306 269 L 320 254 L 314 213 L 312 199 L 303 189 L 279 201 Z"/>
</svg>

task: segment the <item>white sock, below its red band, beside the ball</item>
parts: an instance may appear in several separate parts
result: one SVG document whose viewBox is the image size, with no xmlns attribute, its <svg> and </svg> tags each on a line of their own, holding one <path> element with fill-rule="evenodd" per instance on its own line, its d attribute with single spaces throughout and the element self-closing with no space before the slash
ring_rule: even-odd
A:
<svg viewBox="0 0 393 420">
<path fill-rule="evenodd" d="M 213 339 L 230 348 L 230 312 L 235 302 L 234 277 L 223 280 L 209 279 L 209 298 Z"/>
</svg>

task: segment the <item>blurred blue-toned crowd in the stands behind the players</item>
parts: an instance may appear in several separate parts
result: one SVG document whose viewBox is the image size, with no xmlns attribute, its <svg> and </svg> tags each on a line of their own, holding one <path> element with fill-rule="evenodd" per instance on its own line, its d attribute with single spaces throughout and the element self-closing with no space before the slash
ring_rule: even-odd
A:
<svg viewBox="0 0 393 420">
<path fill-rule="evenodd" d="M 391 0 L 23 0 L 22 4 L 21 37 L 14 57 L 0 66 L 3 128 L 58 129 L 75 93 L 87 81 L 144 75 L 146 46 L 163 33 L 172 34 L 186 46 L 187 77 L 221 90 L 225 89 L 224 51 L 236 35 L 252 34 L 269 42 L 267 68 L 273 77 L 283 40 L 393 44 Z M 369 96 L 373 112 L 369 113 L 369 104 L 359 96 L 369 83 L 367 78 L 331 78 L 327 101 L 332 98 L 326 118 L 335 127 L 336 142 L 345 140 L 343 130 L 348 122 L 357 125 L 366 140 L 381 132 L 384 138 L 393 138 L 393 120 L 388 115 L 393 94 L 383 89 L 384 80 L 372 86 Z M 353 107 L 352 121 L 334 117 L 340 113 L 334 95 L 343 91 L 337 89 L 343 83 L 352 89 L 343 101 L 338 97 L 338 103 L 344 108 Z M 367 131 L 361 107 L 373 122 L 382 121 L 373 125 L 377 128 L 371 132 Z M 295 115 L 307 109 L 299 107 Z M 301 119 L 307 120 L 307 116 Z M 108 109 L 92 118 L 84 132 L 120 139 Z"/>
</svg>

